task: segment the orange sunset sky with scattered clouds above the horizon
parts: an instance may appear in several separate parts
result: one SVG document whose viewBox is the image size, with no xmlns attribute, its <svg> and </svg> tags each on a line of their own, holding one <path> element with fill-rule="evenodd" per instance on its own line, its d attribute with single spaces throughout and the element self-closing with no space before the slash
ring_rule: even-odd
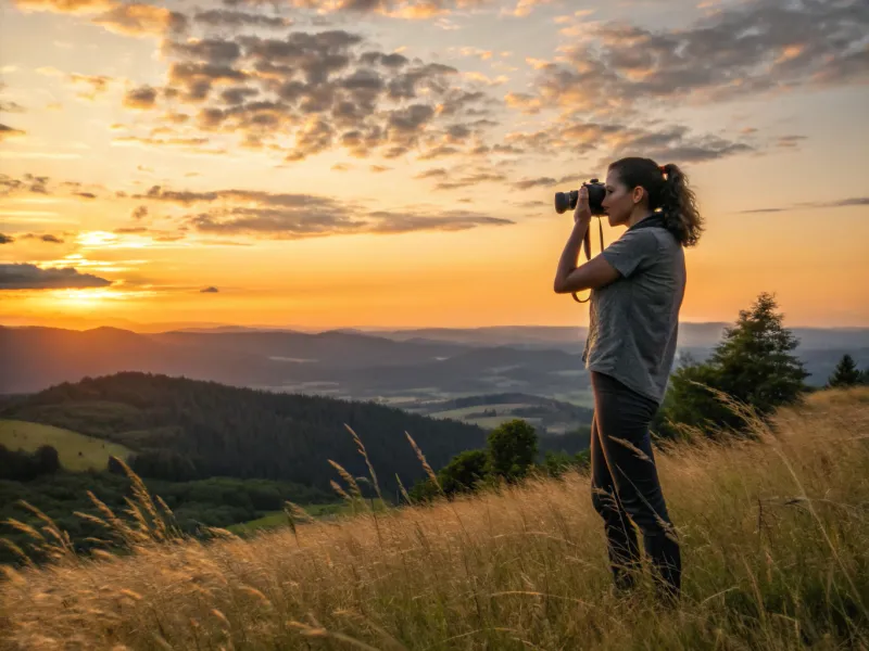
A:
<svg viewBox="0 0 869 651">
<path fill-rule="evenodd" d="M 639 155 L 705 220 L 681 320 L 869 327 L 868 35 L 865 0 L 10 0 L 0 323 L 585 326 L 553 195 Z"/>
</svg>

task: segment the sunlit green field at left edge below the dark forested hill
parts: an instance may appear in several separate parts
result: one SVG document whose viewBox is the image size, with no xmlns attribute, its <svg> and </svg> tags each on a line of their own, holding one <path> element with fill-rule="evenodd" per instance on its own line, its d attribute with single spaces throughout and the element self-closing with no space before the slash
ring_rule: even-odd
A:
<svg viewBox="0 0 869 651">
<path fill-rule="evenodd" d="M 126 459 L 130 449 L 70 430 L 41 423 L 0 419 L 0 444 L 12 450 L 34 451 L 41 445 L 58 450 L 66 470 L 105 470 L 109 456 Z"/>
</svg>

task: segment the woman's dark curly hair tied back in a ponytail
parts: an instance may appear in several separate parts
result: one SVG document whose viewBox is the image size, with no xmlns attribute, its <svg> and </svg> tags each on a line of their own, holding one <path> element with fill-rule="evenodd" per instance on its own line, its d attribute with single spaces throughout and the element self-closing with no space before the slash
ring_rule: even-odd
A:
<svg viewBox="0 0 869 651">
<path fill-rule="evenodd" d="M 620 158 L 609 165 L 628 189 L 645 190 L 648 207 L 660 209 L 664 225 L 682 246 L 694 246 L 703 232 L 703 217 L 694 191 L 679 166 L 658 165 L 652 158 Z"/>
</svg>

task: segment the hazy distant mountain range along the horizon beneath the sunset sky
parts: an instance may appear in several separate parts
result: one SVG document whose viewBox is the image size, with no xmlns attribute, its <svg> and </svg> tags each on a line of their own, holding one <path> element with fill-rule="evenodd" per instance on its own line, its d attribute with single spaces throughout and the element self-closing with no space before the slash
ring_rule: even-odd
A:
<svg viewBox="0 0 869 651">
<path fill-rule="evenodd" d="M 703 359 L 727 323 L 682 323 L 680 352 Z M 796 354 L 822 384 L 844 353 L 869 363 L 869 328 L 796 328 Z M 119 371 L 380 400 L 517 392 L 589 404 L 584 328 L 508 327 L 306 333 L 221 326 L 137 333 L 0 327 L 0 393 L 33 393 Z"/>
</svg>

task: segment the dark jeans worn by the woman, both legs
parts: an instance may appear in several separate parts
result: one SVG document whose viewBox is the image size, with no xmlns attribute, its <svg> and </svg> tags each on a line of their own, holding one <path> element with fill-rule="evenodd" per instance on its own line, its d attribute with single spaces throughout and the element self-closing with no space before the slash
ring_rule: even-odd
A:
<svg viewBox="0 0 869 651">
<path fill-rule="evenodd" d="M 631 521 L 655 566 L 658 593 L 678 599 L 681 557 L 660 490 L 648 424 L 658 404 L 603 373 L 591 372 L 594 419 L 591 425 L 592 503 L 604 519 L 613 578 L 631 588 L 640 569 L 640 548 Z"/>
</svg>

